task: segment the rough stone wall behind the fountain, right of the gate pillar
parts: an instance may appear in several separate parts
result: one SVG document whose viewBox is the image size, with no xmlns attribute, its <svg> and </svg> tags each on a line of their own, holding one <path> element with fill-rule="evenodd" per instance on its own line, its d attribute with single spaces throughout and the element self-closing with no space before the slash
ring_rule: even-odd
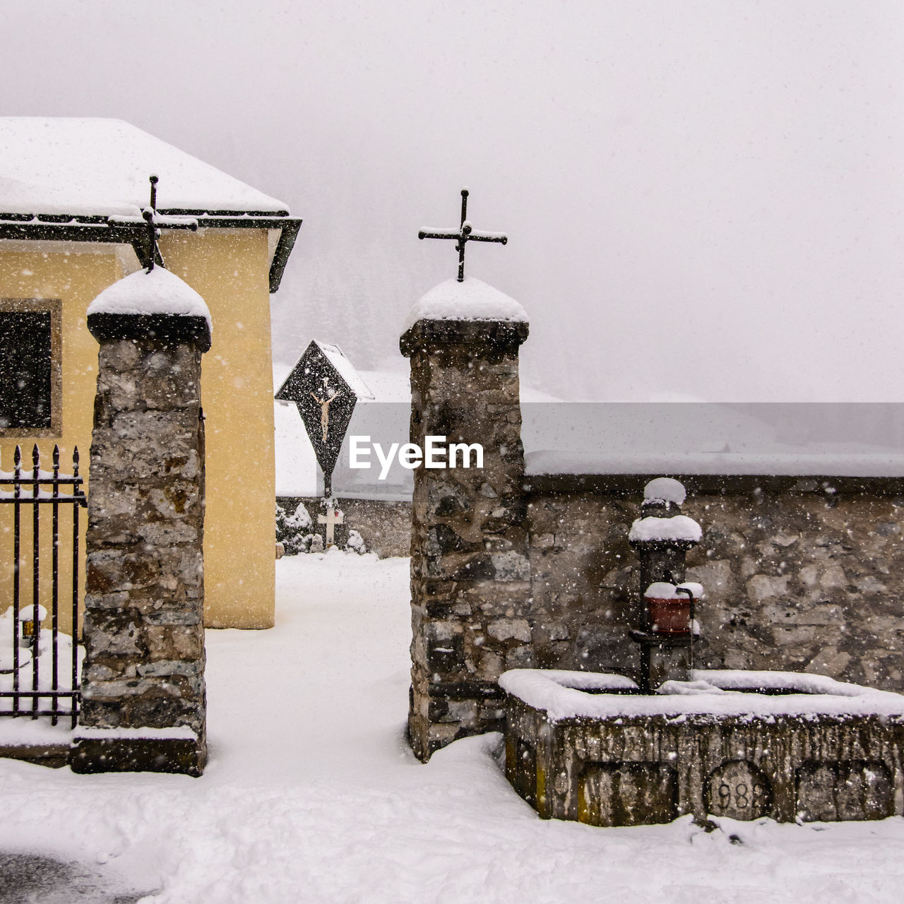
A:
<svg viewBox="0 0 904 904">
<path fill-rule="evenodd" d="M 547 668 L 635 673 L 627 533 L 649 476 L 529 478 L 532 637 Z M 904 690 L 904 481 L 680 476 L 703 528 L 697 667 Z"/>
</svg>

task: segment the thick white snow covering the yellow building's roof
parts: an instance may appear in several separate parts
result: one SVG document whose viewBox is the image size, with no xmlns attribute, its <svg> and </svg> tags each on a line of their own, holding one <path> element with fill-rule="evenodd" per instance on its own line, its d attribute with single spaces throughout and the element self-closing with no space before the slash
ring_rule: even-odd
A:
<svg viewBox="0 0 904 904">
<path fill-rule="evenodd" d="M 163 210 L 287 211 L 121 119 L 0 117 L 0 212 L 136 215 L 151 174 Z"/>
</svg>

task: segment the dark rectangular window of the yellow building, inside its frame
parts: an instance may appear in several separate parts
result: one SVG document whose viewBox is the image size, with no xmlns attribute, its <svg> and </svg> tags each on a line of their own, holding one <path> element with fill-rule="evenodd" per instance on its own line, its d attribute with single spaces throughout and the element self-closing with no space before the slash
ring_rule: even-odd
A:
<svg viewBox="0 0 904 904">
<path fill-rule="evenodd" d="M 0 310 L 0 429 L 47 429 L 53 417 L 52 315 Z"/>
</svg>

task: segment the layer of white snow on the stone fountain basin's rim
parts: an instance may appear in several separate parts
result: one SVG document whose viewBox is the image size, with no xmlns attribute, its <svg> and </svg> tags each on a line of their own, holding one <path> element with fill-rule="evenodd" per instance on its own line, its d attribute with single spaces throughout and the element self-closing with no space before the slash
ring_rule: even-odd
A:
<svg viewBox="0 0 904 904">
<path fill-rule="evenodd" d="M 551 721 L 586 717 L 690 715 L 739 716 L 899 716 L 904 696 L 860 684 L 835 681 L 826 675 L 796 672 L 696 670 L 690 682 L 666 682 L 654 694 L 638 693 L 623 675 L 512 669 L 499 677 L 499 686 Z M 754 693 L 761 688 L 797 691 L 773 696 Z M 585 691 L 634 691 L 586 693 Z"/>
</svg>

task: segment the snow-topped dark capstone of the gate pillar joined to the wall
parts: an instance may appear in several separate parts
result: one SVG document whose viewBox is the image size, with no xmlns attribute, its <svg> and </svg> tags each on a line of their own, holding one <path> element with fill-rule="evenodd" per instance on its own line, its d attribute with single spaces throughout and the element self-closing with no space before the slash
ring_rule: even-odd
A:
<svg viewBox="0 0 904 904">
<path fill-rule="evenodd" d="M 400 347 L 406 356 L 428 341 L 448 343 L 483 338 L 491 344 L 517 347 L 527 334 L 527 312 L 514 298 L 480 279 L 468 277 L 462 282 L 447 279 L 431 288 L 411 308 Z"/>
</svg>

